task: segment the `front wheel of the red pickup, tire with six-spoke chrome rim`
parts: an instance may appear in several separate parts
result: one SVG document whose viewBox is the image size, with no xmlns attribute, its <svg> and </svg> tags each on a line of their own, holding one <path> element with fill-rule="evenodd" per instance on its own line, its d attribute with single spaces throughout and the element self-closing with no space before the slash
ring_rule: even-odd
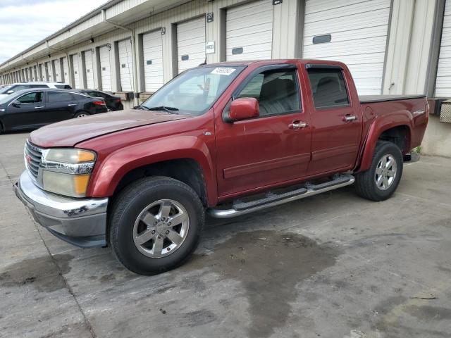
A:
<svg viewBox="0 0 451 338">
<path fill-rule="evenodd" d="M 111 249 L 125 268 L 140 275 L 183 264 L 199 244 L 205 222 L 199 196 L 169 177 L 146 177 L 125 187 L 110 215 Z"/>
</svg>

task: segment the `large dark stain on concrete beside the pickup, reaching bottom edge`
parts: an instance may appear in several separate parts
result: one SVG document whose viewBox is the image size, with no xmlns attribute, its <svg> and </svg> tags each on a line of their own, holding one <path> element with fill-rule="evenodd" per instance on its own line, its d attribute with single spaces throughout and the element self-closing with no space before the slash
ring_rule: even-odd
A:
<svg viewBox="0 0 451 338">
<path fill-rule="evenodd" d="M 249 337 L 268 337 L 290 316 L 296 284 L 334 265 L 340 253 L 299 234 L 240 232 L 213 253 L 194 255 L 183 269 L 208 269 L 239 280 L 249 301 Z"/>
</svg>

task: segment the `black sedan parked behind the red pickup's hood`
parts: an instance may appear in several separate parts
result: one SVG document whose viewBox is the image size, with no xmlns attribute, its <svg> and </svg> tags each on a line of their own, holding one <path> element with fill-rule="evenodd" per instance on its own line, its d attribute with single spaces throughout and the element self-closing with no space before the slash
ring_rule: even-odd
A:
<svg viewBox="0 0 451 338">
<path fill-rule="evenodd" d="M 103 99 L 65 89 L 24 89 L 0 97 L 0 133 L 35 129 L 106 111 L 108 109 Z"/>
</svg>

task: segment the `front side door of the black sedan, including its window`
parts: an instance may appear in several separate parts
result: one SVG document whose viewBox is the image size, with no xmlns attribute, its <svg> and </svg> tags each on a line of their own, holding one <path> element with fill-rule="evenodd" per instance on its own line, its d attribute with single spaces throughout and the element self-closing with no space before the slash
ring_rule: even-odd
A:
<svg viewBox="0 0 451 338">
<path fill-rule="evenodd" d="M 29 92 L 19 96 L 6 108 L 6 124 L 12 129 L 30 129 L 42 125 L 44 93 Z"/>
</svg>

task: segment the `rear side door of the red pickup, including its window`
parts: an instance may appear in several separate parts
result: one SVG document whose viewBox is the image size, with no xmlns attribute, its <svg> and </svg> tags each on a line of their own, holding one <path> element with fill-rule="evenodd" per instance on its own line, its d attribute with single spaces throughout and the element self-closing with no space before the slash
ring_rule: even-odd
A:
<svg viewBox="0 0 451 338">
<path fill-rule="evenodd" d="M 321 68 L 322 67 L 322 68 Z M 352 82 L 340 67 L 307 65 L 313 106 L 309 175 L 351 169 L 362 137 L 359 101 L 350 95 Z M 347 76 L 350 76 L 349 73 Z"/>
</svg>

